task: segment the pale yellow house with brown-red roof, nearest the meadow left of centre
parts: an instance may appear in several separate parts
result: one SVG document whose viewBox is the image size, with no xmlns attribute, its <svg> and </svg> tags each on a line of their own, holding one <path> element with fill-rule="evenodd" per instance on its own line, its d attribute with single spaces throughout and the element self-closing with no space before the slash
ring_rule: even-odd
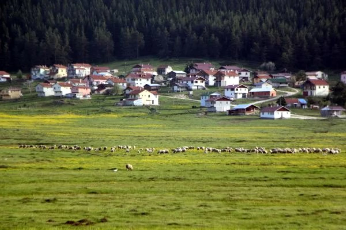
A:
<svg viewBox="0 0 346 230">
<path fill-rule="evenodd" d="M 137 99 L 141 99 L 142 104 L 133 104 L 136 103 Z M 138 101 L 137 101 L 138 102 Z M 156 92 L 151 92 L 148 90 L 134 90 L 129 93 L 129 98 L 125 101 L 126 105 L 158 105 L 158 95 Z"/>
</svg>

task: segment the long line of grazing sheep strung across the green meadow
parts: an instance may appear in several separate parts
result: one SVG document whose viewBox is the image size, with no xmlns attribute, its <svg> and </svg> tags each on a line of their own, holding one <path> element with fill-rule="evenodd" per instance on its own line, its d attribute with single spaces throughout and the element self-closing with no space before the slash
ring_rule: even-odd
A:
<svg viewBox="0 0 346 230">
<path fill-rule="evenodd" d="M 125 151 L 126 153 L 129 152 L 147 152 L 148 154 L 152 154 L 155 152 L 155 148 L 140 148 L 136 150 L 136 146 L 113 146 L 113 147 L 81 147 L 78 145 L 73 146 L 67 146 L 67 145 L 52 145 L 52 146 L 45 146 L 45 145 L 33 145 L 33 144 L 20 144 L 19 148 L 38 148 L 41 150 L 54 150 L 54 149 L 61 149 L 61 150 L 71 150 L 71 151 L 103 151 L 103 152 L 116 152 L 116 151 Z M 209 152 L 215 152 L 215 153 L 221 153 L 221 152 L 241 152 L 241 153 L 322 153 L 322 154 L 337 154 L 341 152 L 341 149 L 339 148 L 272 148 L 272 149 L 265 149 L 264 147 L 255 147 L 252 149 L 245 149 L 245 148 L 231 148 L 231 147 L 225 147 L 225 148 L 212 148 L 212 147 L 194 147 L 194 146 L 184 146 L 184 147 L 177 147 L 173 148 L 171 150 L 169 149 L 158 149 L 157 154 L 167 154 L 167 153 L 181 153 L 181 152 L 187 152 L 188 150 L 198 150 L 203 151 L 204 153 Z"/>
</svg>

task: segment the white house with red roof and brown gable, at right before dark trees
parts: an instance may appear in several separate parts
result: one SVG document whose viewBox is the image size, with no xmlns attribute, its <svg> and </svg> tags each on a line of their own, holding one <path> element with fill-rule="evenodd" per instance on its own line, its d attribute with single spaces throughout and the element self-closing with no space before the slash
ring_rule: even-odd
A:
<svg viewBox="0 0 346 230">
<path fill-rule="evenodd" d="M 327 96 L 329 84 L 323 79 L 308 79 L 303 83 L 303 96 Z"/>
</svg>

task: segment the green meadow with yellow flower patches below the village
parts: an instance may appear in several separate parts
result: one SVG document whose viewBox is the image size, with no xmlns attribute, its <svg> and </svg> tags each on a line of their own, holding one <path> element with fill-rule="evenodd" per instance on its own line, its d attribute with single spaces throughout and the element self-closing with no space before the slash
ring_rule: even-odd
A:
<svg viewBox="0 0 346 230">
<path fill-rule="evenodd" d="M 0 102 L 0 229 L 345 228 L 344 120 L 206 115 L 192 109 L 199 102 L 163 97 L 153 114 L 113 106 L 119 99 L 60 101 L 28 94 Z M 136 150 L 19 149 L 18 144 L 127 144 Z M 137 151 L 178 146 L 343 152 Z M 126 163 L 134 170 L 126 171 Z"/>
</svg>

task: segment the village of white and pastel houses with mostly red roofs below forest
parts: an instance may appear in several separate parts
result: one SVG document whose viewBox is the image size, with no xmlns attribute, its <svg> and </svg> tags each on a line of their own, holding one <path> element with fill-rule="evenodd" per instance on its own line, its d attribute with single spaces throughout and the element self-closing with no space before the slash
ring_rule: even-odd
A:
<svg viewBox="0 0 346 230">
<path fill-rule="evenodd" d="M 201 108 L 206 112 L 225 112 L 227 115 L 259 115 L 261 119 L 291 118 L 290 108 L 307 109 L 307 97 L 326 97 L 330 89 L 328 75 L 321 71 L 305 72 L 305 81 L 296 81 L 289 72 L 253 72 L 238 66 L 220 66 L 218 69 L 208 62 L 190 65 L 187 72 L 173 70 L 169 65 L 157 68 L 151 64 L 136 64 L 126 76 L 118 77 L 117 69 L 92 66 L 87 63 L 74 63 L 67 66 L 54 64 L 51 67 L 39 65 L 31 68 L 29 79 L 37 82 L 37 97 L 60 97 L 71 99 L 91 99 L 93 94 L 123 95 L 116 106 L 158 106 L 161 89 L 168 92 L 187 93 L 206 91 L 200 97 Z M 11 81 L 11 76 L 0 71 L 0 83 Z M 340 81 L 346 83 L 346 71 L 341 73 Z M 278 90 L 294 87 L 295 93 L 302 91 L 302 98 L 285 98 L 285 104 L 269 104 L 259 107 L 256 104 L 274 101 L 279 98 Z M 221 92 L 219 92 L 221 91 Z M 280 91 L 280 90 L 279 90 Z M 291 96 L 288 93 L 284 96 Z M 2 89 L 2 100 L 22 97 L 20 88 Z M 260 99 L 255 102 L 234 104 L 242 99 Z M 309 108 L 318 108 L 310 104 Z M 322 117 L 342 116 L 344 108 L 326 106 L 320 110 Z"/>
</svg>

